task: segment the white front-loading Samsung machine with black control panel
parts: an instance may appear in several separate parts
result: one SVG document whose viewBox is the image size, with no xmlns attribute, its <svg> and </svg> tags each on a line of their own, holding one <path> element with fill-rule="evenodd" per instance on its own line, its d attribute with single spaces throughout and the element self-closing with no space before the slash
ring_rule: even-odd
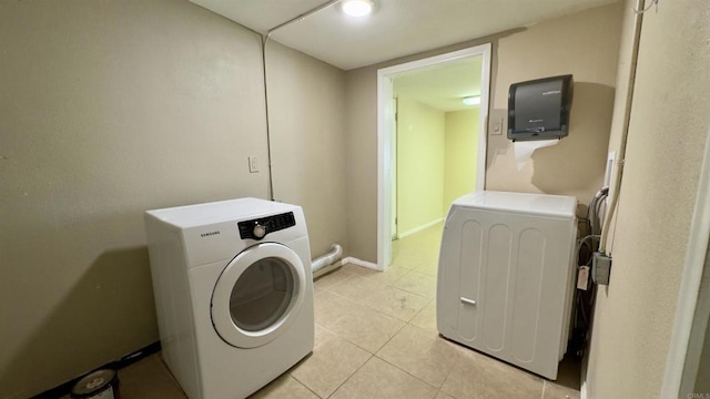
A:
<svg viewBox="0 0 710 399">
<path fill-rule="evenodd" d="M 162 352 L 191 399 L 244 398 L 313 350 L 300 206 L 256 198 L 145 213 Z"/>
</svg>

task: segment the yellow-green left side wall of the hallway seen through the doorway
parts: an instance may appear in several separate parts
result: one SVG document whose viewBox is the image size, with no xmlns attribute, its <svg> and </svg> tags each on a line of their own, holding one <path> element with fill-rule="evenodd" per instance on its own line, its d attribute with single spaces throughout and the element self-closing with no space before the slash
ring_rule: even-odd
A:
<svg viewBox="0 0 710 399">
<path fill-rule="evenodd" d="M 445 122 L 443 111 L 406 96 L 397 100 L 399 236 L 442 218 Z"/>
</svg>

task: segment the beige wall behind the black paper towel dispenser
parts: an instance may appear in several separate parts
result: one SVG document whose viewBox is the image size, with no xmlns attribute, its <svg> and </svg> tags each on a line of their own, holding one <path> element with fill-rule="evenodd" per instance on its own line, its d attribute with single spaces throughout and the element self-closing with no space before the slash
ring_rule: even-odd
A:
<svg viewBox="0 0 710 399">
<path fill-rule="evenodd" d="M 569 135 L 518 171 L 513 142 L 489 135 L 486 190 L 574 195 L 589 203 L 604 183 L 621 28 L 619 4 L 531 27 L 501 39 L 491 119 L 507 115 L 511 83 L 572 74 Z M 506 119 L 507 129 L 507 119 Z"/>
</svg>

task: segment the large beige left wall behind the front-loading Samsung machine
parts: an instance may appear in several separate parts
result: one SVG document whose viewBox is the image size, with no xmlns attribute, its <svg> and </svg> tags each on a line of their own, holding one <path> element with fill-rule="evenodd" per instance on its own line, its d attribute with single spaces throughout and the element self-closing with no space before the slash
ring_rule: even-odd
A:
<svg viewBox="0 0 710 399">
<path fill-rule="evenodd" d="M 158 339 L 143 211 L 268 197 L 264 89 L 260 38 L 187 1 L 3 1 L 0 38 L 0 397 L 26 398 Z M 317 255 L 345 239 L 344 76 L 268 57 L 274 136 L 318 150 L 274 154 Z"/>
</svg>

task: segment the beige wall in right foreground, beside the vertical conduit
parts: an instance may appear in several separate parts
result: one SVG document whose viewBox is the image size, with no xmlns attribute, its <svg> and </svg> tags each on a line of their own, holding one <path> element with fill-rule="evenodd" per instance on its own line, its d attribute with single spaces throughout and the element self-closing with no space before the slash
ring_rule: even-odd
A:
<svg viewBox="0 0 710 399">
<path fill-rule="evenodd" d="M 625 41 L 633 3 L 626 2 Z M 611 282 L 597 294 L 589 398 L 660 396 L 710 123 L 702 94 L 710 90 L 709 12 L 704 0 L 682 0 L 643 16 Z"/>
</svg>

